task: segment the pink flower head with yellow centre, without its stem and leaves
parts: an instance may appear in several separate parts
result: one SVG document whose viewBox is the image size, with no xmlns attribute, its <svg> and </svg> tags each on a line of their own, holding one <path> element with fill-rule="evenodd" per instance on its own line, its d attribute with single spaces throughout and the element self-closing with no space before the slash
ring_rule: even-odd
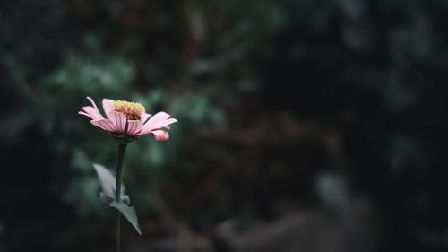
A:
<svg viewBox="0 0 448 252">
<path fill-rule="evenodd" d="M 169 139 L 169 125 L 176 123 L 177 119 L 170 118 L 165 112 L 159 112 L 151 117 L 140 103 L 124 100 L 103 99 L 103 109 L 107 117 L 103 117 L 95 102 L 90 100 L 92 106 L 82 107 L 78 114 L 90 117 L 90 123 L 114 135 L 139 137 L 152 133 L 157 141 Z"/>
</svg>

